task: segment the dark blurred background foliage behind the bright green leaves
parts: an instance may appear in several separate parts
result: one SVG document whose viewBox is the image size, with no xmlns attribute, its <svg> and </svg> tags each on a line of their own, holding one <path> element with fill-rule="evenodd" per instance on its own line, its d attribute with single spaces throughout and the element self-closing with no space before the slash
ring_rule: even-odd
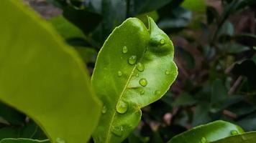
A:
<svg viewBox="0 0 256 143">
<path fill-rule="evenodd" d="M 234 122 L 246 131 L 256 130 L 255 0 L 24 3 L 55 27 L 91 72 L 106 37 L 128 17 L 147 24 L 151 16 L 170 36 L 178 79 L 163 99 L 142 109 L 142 121 L 124 142 L 166 142 L 217 119 Z M 29 117 L 0 103 L 0 139 L 6 137 L 46 138 Z"/>
</svg>

